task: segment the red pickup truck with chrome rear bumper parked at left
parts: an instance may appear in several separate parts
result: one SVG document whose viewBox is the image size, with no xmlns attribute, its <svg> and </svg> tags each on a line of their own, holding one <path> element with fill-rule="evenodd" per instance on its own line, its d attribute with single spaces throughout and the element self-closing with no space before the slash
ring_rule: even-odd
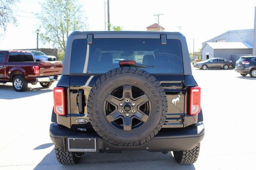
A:
<svg viewBox="0 0 256 170">
<path fill-rule="evenodd" d="M 49 87 L 61 74 L 62 62 L 35 62 L 30 51 L 0 50 L 0 83 L 12 82 L 17 92 L 24 92 L 28 83 Z"/>
</svg>

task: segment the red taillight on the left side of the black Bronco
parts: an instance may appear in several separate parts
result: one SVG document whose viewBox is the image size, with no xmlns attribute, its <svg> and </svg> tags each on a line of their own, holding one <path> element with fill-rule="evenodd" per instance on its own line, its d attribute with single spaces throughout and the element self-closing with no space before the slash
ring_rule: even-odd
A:
<svg viewBox="0 0 256 170">
<path fill-rule="evenodd" d="M 54 112 L 57 115 L 65 115 L 65 89 L 62 87 L 55 87 L 53 89 L 54 97 Z"/>
</svg>

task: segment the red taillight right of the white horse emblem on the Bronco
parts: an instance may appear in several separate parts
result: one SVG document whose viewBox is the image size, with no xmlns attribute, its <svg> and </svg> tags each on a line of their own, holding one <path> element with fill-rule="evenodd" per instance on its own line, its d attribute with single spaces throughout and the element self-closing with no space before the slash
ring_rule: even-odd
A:
<svg viewBox="0 0 256 170">
<path fill-rule="evenodd" d="M 201 88 L 191 87 L 190 88 L 190 110 L 189 115 L 196 115 L 201 110 Z"/>
</svg>

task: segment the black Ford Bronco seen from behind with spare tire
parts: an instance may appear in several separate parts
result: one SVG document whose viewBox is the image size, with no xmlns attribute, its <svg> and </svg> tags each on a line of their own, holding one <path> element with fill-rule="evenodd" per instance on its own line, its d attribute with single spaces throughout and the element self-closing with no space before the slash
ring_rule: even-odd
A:
<svg viewBox="0 0 256 170">
<path fill-rule="evenodd" d="M 177 32 L 75 31 L 54 88 L 50 138 L 61 164 L 85 152 L 173 151 L 196 162 L 204 124 L 200 87 Z"/>
</svg>

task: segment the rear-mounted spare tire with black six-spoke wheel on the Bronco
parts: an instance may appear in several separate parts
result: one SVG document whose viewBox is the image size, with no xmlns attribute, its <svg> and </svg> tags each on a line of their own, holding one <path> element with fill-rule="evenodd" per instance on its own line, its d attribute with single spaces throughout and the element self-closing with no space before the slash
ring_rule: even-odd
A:
<svg viewBox="0 0 256 170">
<path fill-rule="evenodd" d="M 152 139 L 165 122 L 167 99 L 160 82 L 135 67 L 102 75 L 88 97 L 94 130 L 116 146 L 138 146 Z"/>
</svg>

